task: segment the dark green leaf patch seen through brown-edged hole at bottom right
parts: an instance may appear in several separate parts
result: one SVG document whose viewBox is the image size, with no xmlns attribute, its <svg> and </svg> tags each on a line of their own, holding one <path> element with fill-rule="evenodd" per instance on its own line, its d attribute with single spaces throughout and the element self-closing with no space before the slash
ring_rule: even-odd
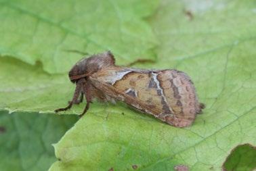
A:
<svg viewBox="0 0 256 171">
<path fill-rule="evenodd" d="M 223 170 L 226 171 L 251 171 L 256 168 L 256 148 L 249 145 L 239 145 L 228 155 L 223 164 Z"/>
</svg>

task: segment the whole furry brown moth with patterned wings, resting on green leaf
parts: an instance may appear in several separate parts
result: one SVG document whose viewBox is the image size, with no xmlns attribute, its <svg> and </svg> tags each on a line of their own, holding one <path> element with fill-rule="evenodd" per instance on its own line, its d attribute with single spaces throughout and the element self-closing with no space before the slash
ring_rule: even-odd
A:
<svg viewBox="0 0 256 171">
<path fill-rule="evenodd" d="M 112 103 L 117 100 L 172 126 L 185 127 L 205 107 L 198 102 L 194 85 L 184 72 L 116 66 L 110 51 L 81 59 L 68 75 L 76 84 L 74 96 L 67 107 L 55 112 L 70 109 L 85 96 L 87 104 L 81 116 L 93 98 Z"/>
</svg>

